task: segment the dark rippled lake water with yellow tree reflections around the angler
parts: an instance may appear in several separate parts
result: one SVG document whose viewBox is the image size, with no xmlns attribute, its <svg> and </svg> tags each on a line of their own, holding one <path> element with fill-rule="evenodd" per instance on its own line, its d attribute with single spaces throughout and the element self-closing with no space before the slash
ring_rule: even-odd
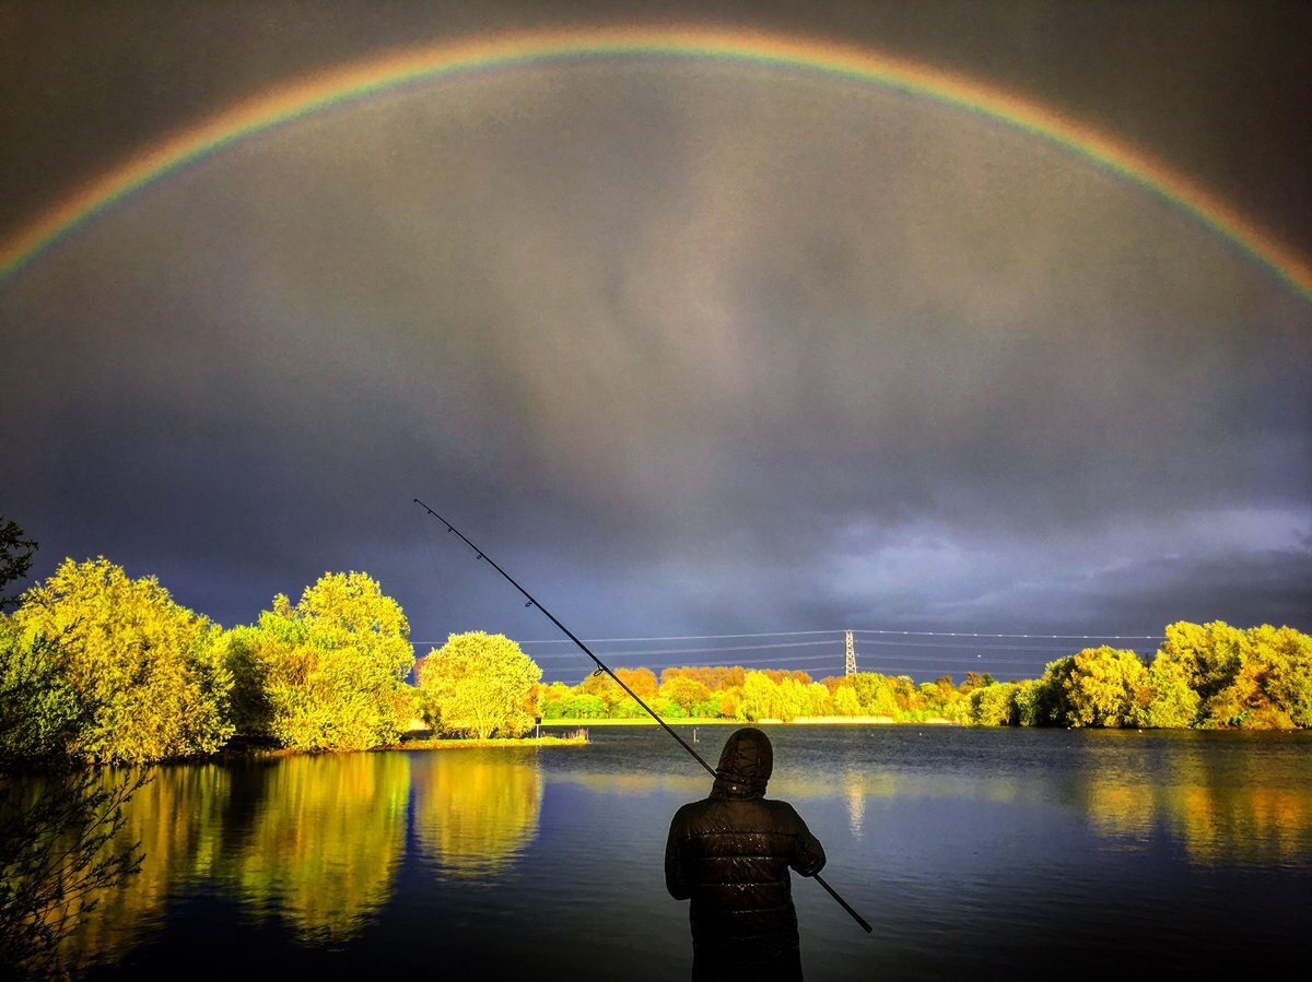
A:
<svg viewBox="0 0 1312 982">
<path fill-rule="evenodd" d="M 714 758 L 731 730 L 702 729 Z M 1312 957 L 1312 734 L 771 728 L 808 979 L 1292 973 Z M 708 781 L 655 729 L 585 749 L 160 768 L 97 978 L 686 978 L 664 892 Z M 1302 972 L 1299 973 L 1302 975 Z"/>
</svg>

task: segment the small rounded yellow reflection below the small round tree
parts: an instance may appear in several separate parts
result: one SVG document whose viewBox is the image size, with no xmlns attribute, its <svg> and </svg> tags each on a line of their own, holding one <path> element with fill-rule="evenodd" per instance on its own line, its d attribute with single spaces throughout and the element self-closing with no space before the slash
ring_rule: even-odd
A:
<svg viewBox="0 0 1312 982">
<path fill-rule="evenodd" d="M 504 751 L 432 751 L 412 763 L 415 836 L 457 877 L 505 872 L 533 840 L 542 812 L 535 758 Z"/>
</svg>

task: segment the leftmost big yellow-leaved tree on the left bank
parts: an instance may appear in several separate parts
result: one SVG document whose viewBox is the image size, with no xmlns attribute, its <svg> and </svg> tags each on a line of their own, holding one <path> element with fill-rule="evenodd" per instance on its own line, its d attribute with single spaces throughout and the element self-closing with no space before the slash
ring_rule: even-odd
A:
<svg viewBox="0 0 1312 982">
<path fill-rule="evenodd" d="M 220 632 L 155 577 L 131 579 L 104 557 L 64 560 L 24 594 L 14 621 L 29 642 L 58 645 L 62 677 L 96 707 L 80 747 L 92 759 L 209 754 L 232 736 Z"/>
</svg>

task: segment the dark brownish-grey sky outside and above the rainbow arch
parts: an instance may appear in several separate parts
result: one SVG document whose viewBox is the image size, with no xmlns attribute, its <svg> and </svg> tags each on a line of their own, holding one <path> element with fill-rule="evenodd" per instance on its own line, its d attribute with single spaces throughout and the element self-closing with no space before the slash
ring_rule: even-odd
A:
<svg viewBox="0 0 1312 982">
<path fill-rule="evenodd" d="M 38 212 L 160 134 L 345 60 L 442 38 L 577 24 L 699 22 L 866 45 L 1029 93 L 1105 126 L 1312 249 L 1308 10 L 1287 0 L 300 0 L 5 3 L 0 223 Z"/>
</svg>

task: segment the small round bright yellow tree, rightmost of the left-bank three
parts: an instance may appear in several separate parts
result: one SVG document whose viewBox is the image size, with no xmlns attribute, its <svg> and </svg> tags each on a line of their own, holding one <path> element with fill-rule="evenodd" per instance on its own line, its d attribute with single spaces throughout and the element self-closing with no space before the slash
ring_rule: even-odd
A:
<svg viewBox="0 0 1312 982">
<path fill-rule="evenodd" d="M 426 718 L 443 733 L 521 736 L 542 669 L 504 635 L 451 635 L 419 667 Z M 598 697 L 600 701 L 600 697 Z"/>
</svg>

